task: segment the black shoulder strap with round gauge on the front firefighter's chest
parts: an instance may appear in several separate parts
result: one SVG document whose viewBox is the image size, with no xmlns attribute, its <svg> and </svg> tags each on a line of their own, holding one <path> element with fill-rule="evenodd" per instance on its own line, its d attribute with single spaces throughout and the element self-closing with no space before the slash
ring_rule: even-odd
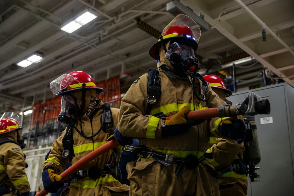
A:
<svg viewBox="0 0 294 196">
<path fill-rule="evenodd" d="M 156 105 L 160 94 L 161 94 L 161 85 L 160 85 L 160 77 L 158 74 L 157 69 L 148 69 L 148 83 L 147 83 L 147 111 L 146 114 L 148 114 L 151 110 L 151 107 Z"/>
</svg>

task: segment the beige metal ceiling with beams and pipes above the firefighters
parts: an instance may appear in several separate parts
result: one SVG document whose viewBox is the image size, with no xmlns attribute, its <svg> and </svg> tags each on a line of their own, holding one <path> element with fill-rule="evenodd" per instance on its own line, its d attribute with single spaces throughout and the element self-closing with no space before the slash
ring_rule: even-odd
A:
<svg viewBox="0 0 294 196">
<path fill-rule="evenodd" d="M 148 54 L 155 36 L 136 26 L 141 20 L 158 31 L 174 18 L 170 0 L 2 0 L 0 1 L 0 111 L 19 110 L 52 98 L 49 83 L 63 73 L 85 71 L 96 82 L 121 75 L 127 88 L 155 68 Z M 259 82 L 261 64 L 294 86 L 293 0 L 183 0 L 192 15 L 203 18 L 196 56 L 201 74 L 219 70 L 222 59 L 248 53 L 255 59 L 237 71 L 240 84 Z M 74 31 L 60 28 L 82 11 L 98 17 Z M 193 15 L 194 16 L 194 15 Z M 191 16 L 192 17 L 192 16 Z M 200 23 L 200 21 L 198 22 Z M 262 29 L 266 41 L 262 41 Z M 39 63 L 16 65 L 32 53 L 42 53 Z M 124 77 L 123 73 L 133 74 Z M 246 79 L 250 82 L 246 83 Z"/>
</svg>

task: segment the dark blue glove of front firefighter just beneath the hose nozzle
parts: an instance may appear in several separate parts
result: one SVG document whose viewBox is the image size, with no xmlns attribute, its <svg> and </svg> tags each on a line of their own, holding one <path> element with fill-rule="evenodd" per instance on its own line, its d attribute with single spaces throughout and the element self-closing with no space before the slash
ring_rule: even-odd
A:
<svg viewBox="0 0 294 196">
<path fill-rule="evenodd" d="M 219 125 L 219 131 L 220 134 L 237 141 L 238 144 L 242 143 L 245 140 L 245 124 L 241 119 L 224 119 Z"/>
</svg>

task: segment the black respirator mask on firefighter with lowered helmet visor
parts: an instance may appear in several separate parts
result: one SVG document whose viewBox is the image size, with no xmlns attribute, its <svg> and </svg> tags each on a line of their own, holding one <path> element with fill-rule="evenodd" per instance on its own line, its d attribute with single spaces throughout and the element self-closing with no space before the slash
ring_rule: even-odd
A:
<svg viewBox="0 0 294 196">
<path fill-rule="evenodd" d="M 69 124 L 70 119 L 73 120 L 77 117 L 78 107 L 77 100 L 71 94 L 63 94 L 61 96 L 61 112 L 57 120 L 64 124 Z"/>
</svg>

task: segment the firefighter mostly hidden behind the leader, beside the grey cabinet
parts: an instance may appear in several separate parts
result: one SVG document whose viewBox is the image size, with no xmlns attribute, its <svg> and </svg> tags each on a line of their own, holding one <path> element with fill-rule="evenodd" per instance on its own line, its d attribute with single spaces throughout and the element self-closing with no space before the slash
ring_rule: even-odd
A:
<svg viewBox="0 0 294 196">
<path fill-rule="evenodd" d="M 232 91 L 225 88 L 225 83 L 220 77 L 206 75 L 203 78 L 219 98 L 232 105 L 232 102 L 227 100 Z M 244 143 L 238 144 L 229 138 L 211 136 L 207 152 L 213 153 L 213 158 L 206 160 L 222 174 L 218 179 L 221 196 L 247 195 L 247 169 L 242 161 L 244 150 Z"/>
</svg>

